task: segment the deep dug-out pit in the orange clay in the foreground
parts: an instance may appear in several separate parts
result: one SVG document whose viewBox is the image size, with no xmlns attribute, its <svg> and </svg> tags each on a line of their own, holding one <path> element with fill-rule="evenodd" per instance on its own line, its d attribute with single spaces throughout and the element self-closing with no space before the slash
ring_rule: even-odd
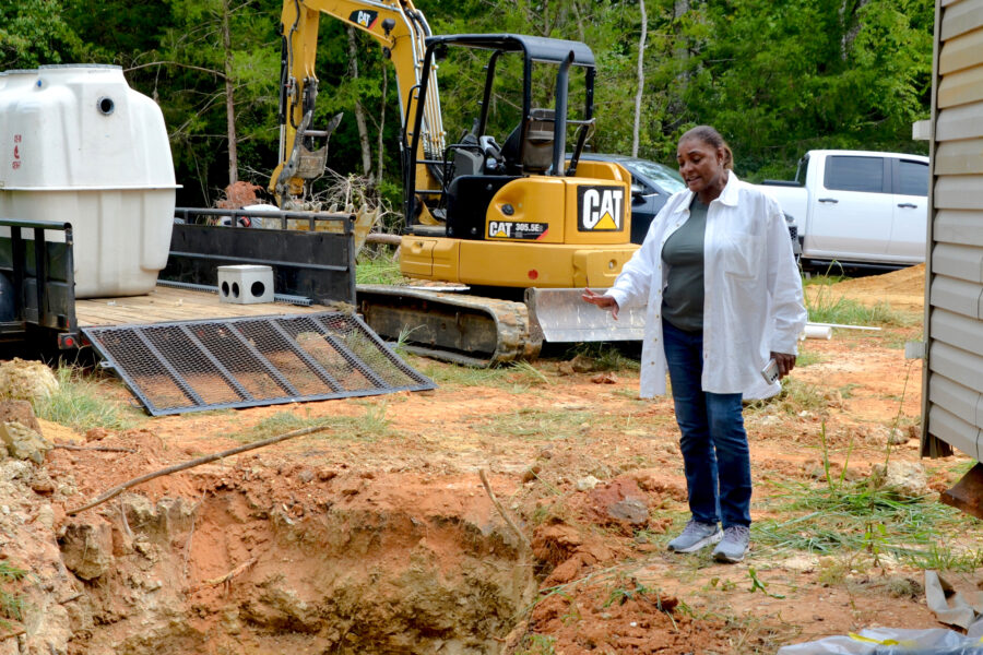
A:
<svg viewBox="0 0 983 655">
<path fill-rule="evenodd" d="M 454 489 L 448 511 L 433 492 L 395 507 L 365 479 L 296 475 L 303 498 L 245 467 L 198 502 L 128 495 L 68 517 L 58 543 L 81 592 L 68 652 L 500 652 L 537 585 L 481 497 L 463 513 Z"/>
</svg>

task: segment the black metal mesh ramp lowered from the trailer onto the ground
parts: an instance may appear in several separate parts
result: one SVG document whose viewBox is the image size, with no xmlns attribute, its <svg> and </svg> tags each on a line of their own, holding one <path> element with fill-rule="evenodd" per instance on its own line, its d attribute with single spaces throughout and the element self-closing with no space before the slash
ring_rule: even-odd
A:
<svg viewBox="0 0 983 655">
<path fill-rule="evenodd" d="M 153 416 L 435 389 L 344 313 L 82 332 Z"/>
</svg>

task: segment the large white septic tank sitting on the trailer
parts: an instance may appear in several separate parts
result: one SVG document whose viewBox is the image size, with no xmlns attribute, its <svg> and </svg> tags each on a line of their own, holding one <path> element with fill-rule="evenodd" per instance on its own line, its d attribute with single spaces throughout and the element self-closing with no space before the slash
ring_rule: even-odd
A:
<svg viewBox="0 0 983 655">
<path fill-rule="evenodd" d="M 129 87 L 122 69 L 7 71 L 0 157 L 0 217 L 72 225 L 76 297 L 154 288 L 177 186 L 161 108 Z"/>
</svg>

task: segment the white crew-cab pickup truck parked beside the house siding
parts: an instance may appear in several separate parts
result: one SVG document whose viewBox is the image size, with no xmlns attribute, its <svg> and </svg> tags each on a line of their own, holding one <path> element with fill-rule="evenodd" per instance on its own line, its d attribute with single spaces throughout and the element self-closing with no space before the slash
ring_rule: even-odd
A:
<svg viewBox="0 0 983 655">
<path fill-rule="evenodd" d="M 897 269 L 925 261 L 928 157 L 809 151 L 795 181 L 766 180 L 761 188 L 795 221 L 805 266 Z"/>
</svg>

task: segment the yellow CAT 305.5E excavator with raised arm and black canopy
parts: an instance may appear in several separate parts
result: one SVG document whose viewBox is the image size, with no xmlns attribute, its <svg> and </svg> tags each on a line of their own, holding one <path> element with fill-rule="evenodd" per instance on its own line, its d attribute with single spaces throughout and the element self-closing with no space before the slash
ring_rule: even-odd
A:
<svg viewBox="0 0 983 655">
<path fill-rule="evenodd" d="M 591 49 L 517 34 L 434 36 L 410 0 L 285 0 L 280 165 L 270 182 L 284 209 L 299 206 L 323 172 L 337 121 L 311 124 L 321 14 L 371 35 L 395 67 L 406 224 L 400 269 L 429 281 L 359 286 L 366 322 L 411 350 L 477 366 L 534 358 L 544 340 L 640 338 L 640 314 L 615 323 L 579 299 L 585 286 L 609 286 L 638 248 L 629 240 L 630 174 L 580 160 L 594 123 Z M 451 49 L 481 58 L 485 71 L 474 122 L 455 143 L 447 142 L 436 74 Z M 533 69 L 544 66 L 553 106 L 535 107 L 533 86 L 544 84 Z M 575 72 L 582 106 L 571 111 Z M 513 88 L 502 91 L 510 80 Z M 486 132 L 500 102 L 520 118 L 499 145 Z"/>
</svg>

